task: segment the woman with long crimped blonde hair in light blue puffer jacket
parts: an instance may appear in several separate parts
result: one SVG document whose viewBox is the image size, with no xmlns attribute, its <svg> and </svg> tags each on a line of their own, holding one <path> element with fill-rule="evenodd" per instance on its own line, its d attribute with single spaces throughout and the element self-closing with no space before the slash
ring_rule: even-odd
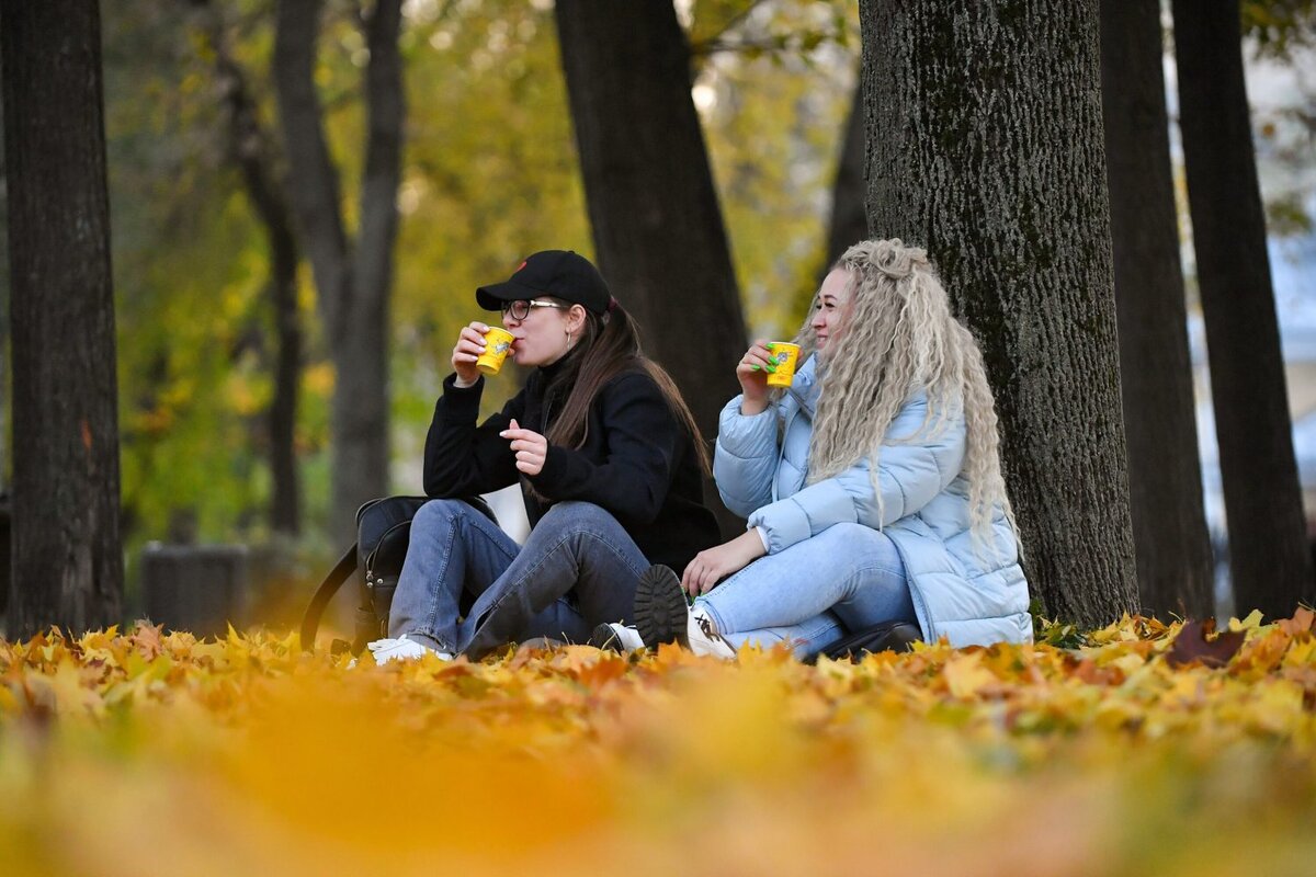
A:
<svg viewBox="0 0 1316 877">
<path fill-rule="evenodd" d="M 721 413 L 713 473 L 749 529 L 679 577 L 647 571 L 630 638 L 722 657 L 783 640 L 804 657 L 896 621 L 953 646 L 1029 640 L 991 388 L 926 254 L 850 247 L 796 342 L 788 391 L 769 392 L 758 342 Z"/>
</svg>

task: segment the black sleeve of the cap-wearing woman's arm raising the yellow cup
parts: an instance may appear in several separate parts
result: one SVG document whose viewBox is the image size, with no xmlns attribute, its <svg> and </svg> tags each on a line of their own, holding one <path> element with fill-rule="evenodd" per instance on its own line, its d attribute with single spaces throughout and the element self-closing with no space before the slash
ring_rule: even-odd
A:
<svg viewBox="0 0 1316 877">
<path fill-rule="evenodd" d="M 449 498 L 488 493 L 516 483 L 516 455 L 499 433 L 521 415 L 525 391 L 503 410 L 475 425 L 480 415 L 482 376 L 471 387 L 457 387 L 455 375 L 443 381 L 434 404 L 434 419 L 425 437 L 425 496 Z"/>
</svg>

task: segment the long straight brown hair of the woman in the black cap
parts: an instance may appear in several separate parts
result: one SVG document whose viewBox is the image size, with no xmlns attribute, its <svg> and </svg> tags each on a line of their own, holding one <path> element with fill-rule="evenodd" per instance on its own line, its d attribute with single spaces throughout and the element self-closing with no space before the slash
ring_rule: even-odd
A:
<svg viewBox="0 0 1316 877">
<path fill-rule="evenodd" d="M 662 366 L 653 362 L 640 348 L 640 334 L 630 314 L 613 302 L 605 314 L 596 314 L 586 309 L 586 321 L 580 329 L 580 341 L 576 350 L 567 355 L 547 389 L 551 394 L 558 388 L 566 387 L 566 402 L 561 413 L 549 426 L 546 438 L 550 444 L 579 448 L 590 435 L 590 406 L 603 387 L 624 372 L 644 371 L 658 384 L 667 406 L 678 421 L 690 433 L 695 444 L 695 454 L 699 459 L 699 468 L 707 476 L 712 467 L 708 459 L 708 447 L 704 437 L 695 423 L 694 414 L 680 397 L 675 381 L 663 371 Z"/>
</svg>

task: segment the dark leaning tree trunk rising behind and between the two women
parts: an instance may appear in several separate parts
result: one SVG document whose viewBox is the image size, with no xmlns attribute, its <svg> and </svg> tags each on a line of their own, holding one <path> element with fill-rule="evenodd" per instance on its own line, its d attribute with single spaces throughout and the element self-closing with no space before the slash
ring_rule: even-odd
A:
<svg viewBox="0 0 1316 877">
<path fill-rule="evenodd" d="M 686 34 L 670 0 L 555 12 L 599 268 L 712 440 L 746 341 Z"/>
</svg>

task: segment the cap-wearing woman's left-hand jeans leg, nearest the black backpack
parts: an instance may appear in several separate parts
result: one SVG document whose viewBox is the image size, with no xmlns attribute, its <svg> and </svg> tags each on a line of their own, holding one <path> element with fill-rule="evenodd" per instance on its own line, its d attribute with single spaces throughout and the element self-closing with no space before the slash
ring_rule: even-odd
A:
<svg viewBox="0 0 1316 877">
<path fill-rule="evenodd" d="M 519 547 L 474 506 L 432 500 L 412 518 L 407 560 L 388 613 L 388 635 L 455 653 L 463 588 L 479 594 L 516 557 Z"/>
</svg>

